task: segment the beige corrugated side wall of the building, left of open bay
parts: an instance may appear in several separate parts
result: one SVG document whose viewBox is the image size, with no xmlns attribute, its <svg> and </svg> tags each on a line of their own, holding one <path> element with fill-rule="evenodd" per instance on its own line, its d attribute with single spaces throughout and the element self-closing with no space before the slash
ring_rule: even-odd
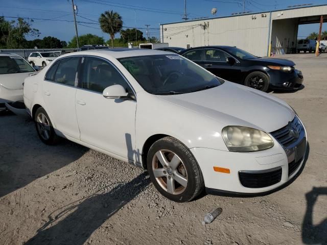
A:
<svg viewBox="0 0 327 245">
<path fill-rule="evenodd" d="M 268 27 L 269 13 L 264 13 L 264 17 L 256 14 L 165 24 L 164 42 L 180 47 L 230 45 L 264 56 L 268 48 Z"/>
</svg>

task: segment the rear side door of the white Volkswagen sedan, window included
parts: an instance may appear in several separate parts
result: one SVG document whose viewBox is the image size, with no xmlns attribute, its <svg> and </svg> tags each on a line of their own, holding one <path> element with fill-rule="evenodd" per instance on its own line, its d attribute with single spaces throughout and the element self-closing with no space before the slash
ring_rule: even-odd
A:
<svg viewBox="0 0 327 245">
<path fill-rule="evenodd" d="M 79 139 L 80 132 L 75 110 L 77 67 L 80 57 L 58 60 L 46 72 L 43 81 L 46 112 L 61 133 Z"/>
</svg>

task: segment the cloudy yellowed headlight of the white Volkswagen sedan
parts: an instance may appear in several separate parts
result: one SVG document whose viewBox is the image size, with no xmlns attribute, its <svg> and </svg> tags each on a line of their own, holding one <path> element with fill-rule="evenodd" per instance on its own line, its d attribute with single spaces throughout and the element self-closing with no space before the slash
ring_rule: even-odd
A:
<svg viewBox="0 0 327 245">
<path fill-rule="evenodd" d="M 223 139 L 231 152 L 255 152 L 274 146 L 265 132 L 243 126 L 227 126 L 222 130 Z"/>
</svg>

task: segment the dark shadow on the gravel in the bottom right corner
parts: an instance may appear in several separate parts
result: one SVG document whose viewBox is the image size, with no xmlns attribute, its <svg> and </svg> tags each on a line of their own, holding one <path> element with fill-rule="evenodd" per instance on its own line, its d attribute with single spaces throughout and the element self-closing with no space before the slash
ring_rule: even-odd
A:
<svg viewBox="0 0 327 245">
<path fill-rule="evenodd" d="M 327 187 L 313 187 L 306 194 L 307 210 L 302 222 L 302 241 L 305 244 L 327 244 L 327 216 L 320 224 L 313 224 L 313 208 L 319 195 L 327 195 Z"/>
</svg>

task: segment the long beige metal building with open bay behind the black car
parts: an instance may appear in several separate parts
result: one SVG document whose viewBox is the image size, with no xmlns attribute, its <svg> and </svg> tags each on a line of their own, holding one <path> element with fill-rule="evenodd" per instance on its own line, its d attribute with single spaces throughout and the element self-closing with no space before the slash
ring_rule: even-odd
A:
<svg viewBox="0 0 327 245">
<path fill-rule="evenodd" d="M 327 21 L 327 5 L 308 5 L 268 12 L 191 19 L 160 25 L 161 42 L 169 46 L 237 46 L 257 56 L 290 53 L 299 24 Z M 317 30 L 318 32 L 318 30 Z"/>
</svg>

